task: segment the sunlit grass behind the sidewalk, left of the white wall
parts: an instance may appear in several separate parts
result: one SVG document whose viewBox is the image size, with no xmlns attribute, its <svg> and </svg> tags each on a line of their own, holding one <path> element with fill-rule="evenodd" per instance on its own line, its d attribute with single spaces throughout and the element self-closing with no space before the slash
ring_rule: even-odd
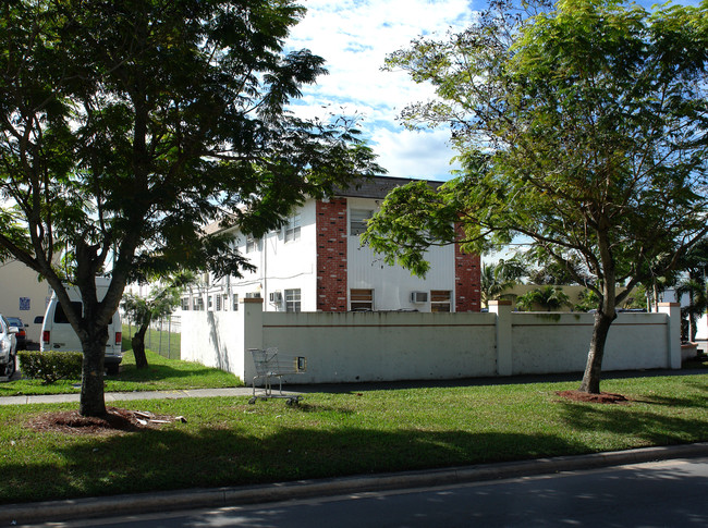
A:
<svg viewBox="0 0 708 528">
<path fill-rule="evenodd" d="M 106 392 L 174 391 L 183 389 L 211 389 L 243 386 L 241 380 L 229 372 L 190 361 L 167 359 L 146 351 L 149 367 L 135 368 L 132 351 L 126 352 L 118 376 L 106 377 Z M 0 383 L 0 396 L 20 394 L 70 394 L 80 392 L 81 380 L 60 380 L 49 385 L 39 380 L 16 380 Z"/>
</svg>

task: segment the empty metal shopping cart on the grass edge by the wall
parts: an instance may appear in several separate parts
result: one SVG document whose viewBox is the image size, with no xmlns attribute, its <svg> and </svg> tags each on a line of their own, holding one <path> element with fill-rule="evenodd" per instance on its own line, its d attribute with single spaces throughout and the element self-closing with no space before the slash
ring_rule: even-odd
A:
<svg viewBox="0 0 708 528">
<path fill-rule="evenodd" d="M 256 376 L 253 377 L 253 396 L 249 404 L 255 404 L 258 398 L 280 397 L 285 400 L 286 405 L 297 405 L 302 396 L 295 394 L 283 394 L 283 376 L 303 373 L 307 368 L 307 360 L 303 356 L 284 356 L 278 348 L 249 348 L 253 363 L 256 367 Z M 272 379 L 278 378 L 278 393 L 273 394 Z M 256 380 L 263 381 L 263 388 L 256 394 Z"/>
</svg>

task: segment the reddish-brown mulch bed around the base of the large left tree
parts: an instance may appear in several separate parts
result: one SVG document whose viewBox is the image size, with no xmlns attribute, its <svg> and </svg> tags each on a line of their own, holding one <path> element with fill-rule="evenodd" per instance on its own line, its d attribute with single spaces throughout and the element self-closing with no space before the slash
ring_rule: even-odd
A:
<svg viewBox="0 0 708 528">
<path fill-rule="evenodd" d="M 164 422 L 174 421 L 172 417 L 155 415 L 146 419 L 143 413 L 115 407 L 106 410 L 107 415 L 103 417 L 82 416 L 78 410 L 45 413 L 30 418 L 27 426 L 35 431 L 106 437 L 156 429 Z"/>
</svg>

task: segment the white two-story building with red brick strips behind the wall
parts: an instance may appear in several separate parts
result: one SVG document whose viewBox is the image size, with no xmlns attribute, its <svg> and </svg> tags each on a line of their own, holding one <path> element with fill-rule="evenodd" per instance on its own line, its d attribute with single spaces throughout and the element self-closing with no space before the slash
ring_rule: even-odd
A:
<svg viewBox="0 0 708 528">
<path fill-rule="evenodd" d="M 456 244 L 431 248 L 431 268 L 422 279 L 361 245 L 366 220 L 407 182 L 377 176 L 329 199 L 310 199 L 263 238 L 234 230 L 234 243 L 256 271 L 241 279 L 205 277 L 185 293 L 182 309 L 237 310 L 240 299 L 263 297 L 266 311 L 479 311 L 477 255 Z"/>
</svg>

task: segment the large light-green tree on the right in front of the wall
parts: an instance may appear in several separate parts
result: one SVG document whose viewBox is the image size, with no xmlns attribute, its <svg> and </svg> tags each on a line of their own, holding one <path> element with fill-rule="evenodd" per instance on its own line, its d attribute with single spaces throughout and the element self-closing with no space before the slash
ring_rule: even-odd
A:
<svg viewBox="0 0 708 528">
<path fill-rule="evenodd" d="M 463 169 L 438 192 L 389 195 L 366 240 L 422 273 L 423 251 L 460 229 L 468 250 L 521 235 L 581 262 L 583 273 L 565 269 L 598 304 L 579 390 L 598 393 L 615 307 L 708 231 L 708 2 L 651 13 L 612 0 L 524 2 L 538 12 L 521 14 L 511 4 L 387 59 L 434 85 L 438 99 L 402 119 L 449 125 Z"/>
</svg>

